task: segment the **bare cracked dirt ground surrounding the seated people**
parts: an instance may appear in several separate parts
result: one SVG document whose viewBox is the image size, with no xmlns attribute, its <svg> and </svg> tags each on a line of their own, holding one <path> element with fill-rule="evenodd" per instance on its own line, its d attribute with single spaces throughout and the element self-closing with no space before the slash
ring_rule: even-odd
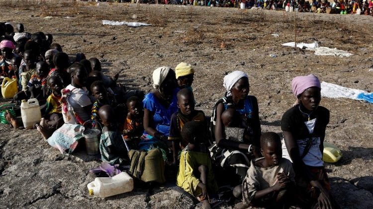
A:
<svg viewBox="0 0 373 209">
<path fill-rule="evenodd" d="M 294 40 L 293 14 L 283 11 L 17 2 L 15 6 L 10 0 L 0 1 L 0 21 L 21 22 L 28 32 L 51 33 L 72 56 L 84 52 L 98 57 L 104 72 L 120 72 L 120 82 L 130 89 L 150 91 L 156 67 L 175 67 L 181 61 L 193 64 L 197 108 L 207 115 L 224 94 L 224 75 L 246 72 L 250 94 L 259 101 L 263 132 L 281 132 L 281 116 L 294 102 L 290 89 L 294 76 L 313 73 L 321 81 L 373 91 L 373 72 L 368 71 L 373 61 L 371 16 L 298 14 L 297 40 L 354 54 L 341 58 L 282 47 Z M 103 19 L 153 25 L 104 26 Z M 343 151 L 338 163 L 326 164 L 333 195 L 341 208 L 373 208 L 373 104 L 322 98 L 321 105 L 331 112 L 326 141 Z M 94 179 L 89 168 L 97 165 L 98 159 L 84 152 L 61 155 L 36 130 L 1 125 L 0 208 L 195 208 L 189 197 L 169 187 L 151 193 L 135 189 L 106 200 L 92 198 L 86 185 Z"/>
</svg>

